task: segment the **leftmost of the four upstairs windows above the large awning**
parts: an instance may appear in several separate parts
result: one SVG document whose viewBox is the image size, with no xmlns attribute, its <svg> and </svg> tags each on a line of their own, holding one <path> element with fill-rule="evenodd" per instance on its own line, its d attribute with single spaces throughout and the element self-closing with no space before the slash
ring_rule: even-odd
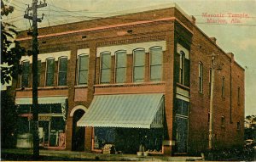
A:
<svg viewBox="0 0 256 162">
<path fill-rule="evenodd" d="M 110 67 L 111 67 L 111 55 L 110 53 L 101 54 L 101 83 L 110 82 Z"/>
</svg>

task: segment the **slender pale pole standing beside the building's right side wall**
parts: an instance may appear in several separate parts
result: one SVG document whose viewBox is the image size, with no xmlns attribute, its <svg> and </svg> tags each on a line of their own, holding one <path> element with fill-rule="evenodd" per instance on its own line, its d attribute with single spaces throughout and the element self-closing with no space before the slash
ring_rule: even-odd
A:
<svg viewBox="0 0 256 162">
<path fill-rule="evenodd" d="M 210 119 L 209 119 L 209 149 L 212 149 L 212 137 L 213 137 L 213 90 L 214 90 L 214 72 L 215 72 L 215 56 L 216 54 L 212 53 L 212 74 L 211 74 L 211 93 L 210 93 Z M 216 70 L 222 70 L 222 66 L 218 65 Z"/>
</svg>

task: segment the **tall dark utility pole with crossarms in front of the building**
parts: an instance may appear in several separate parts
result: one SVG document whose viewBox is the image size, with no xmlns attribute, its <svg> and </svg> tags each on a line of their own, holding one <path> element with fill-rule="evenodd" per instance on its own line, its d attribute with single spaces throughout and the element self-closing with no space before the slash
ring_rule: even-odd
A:
<svg viewBox="0 0 256 162">
<path fill-rule="evenodd" d="M 38 0 L 32 0 L 32 7 L 26 8 L 24 18 L 32 20 L 32 134 L 33 134 L 33 158 L 39 158 L 39 137 L 38 137 L 38 22 L 42 22 L 42 18 L 38 18 L 38 8 L 47 6 L 47 3 Z M 32 14 L 29 12 L 32 11 Z"/>
</svg>

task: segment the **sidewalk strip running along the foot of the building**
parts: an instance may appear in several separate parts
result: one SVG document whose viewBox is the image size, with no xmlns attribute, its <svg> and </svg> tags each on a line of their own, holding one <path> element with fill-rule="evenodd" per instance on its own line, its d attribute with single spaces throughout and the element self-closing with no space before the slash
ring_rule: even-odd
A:
<svg viewBox="0 0 256 162">
<path fill-rule="evenodd" d="M 4 154 L 14 155 L 32 155 L 32 149 L 2 149 L 1 159 Z M 189 157 L 189 156 L 142 156 L 137 154 L 92 154 L 84 152 L 75 152 L 67 150 L 40 150 L 40 156 L 54 157 L 54 159 L 84 159 L 84 160 L 97 160 L 97 161 L 201 161 L 201 157 Z M 39 159 L 40 160 L 40 159 Z"/>
</svg>

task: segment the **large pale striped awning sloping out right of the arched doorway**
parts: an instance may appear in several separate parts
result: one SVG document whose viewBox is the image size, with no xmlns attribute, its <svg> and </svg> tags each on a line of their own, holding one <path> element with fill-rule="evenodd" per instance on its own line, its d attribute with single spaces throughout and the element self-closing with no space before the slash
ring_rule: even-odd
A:
<svg viewBox="0 0 256 162">
<path fill-rule="evenodd" d="M 77 126 L 149 129 L 163 127 L 163 119 L 162 93 L 99 95 Z"/>
</svg>

